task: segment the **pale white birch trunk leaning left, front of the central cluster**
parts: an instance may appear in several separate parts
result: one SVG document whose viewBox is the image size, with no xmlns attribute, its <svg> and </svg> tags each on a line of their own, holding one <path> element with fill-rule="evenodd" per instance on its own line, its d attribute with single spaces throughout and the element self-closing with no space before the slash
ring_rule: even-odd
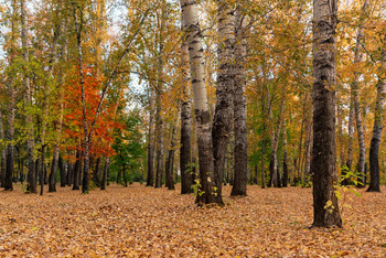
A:
<svg viewBox="0 0 386 258">
<path fill-rule="evenodd" d="M 186 32 L 189 60 L 192 74 L 194 114 L 196 120 L 200 184 L 195 202 L 199 204 L 216 203 L 213 163 L 211 115 L 208 110 L 204 78 L 204 57 L 202 32 L 195 0 L 180 0 L 183 29 Z"/>
</svg>

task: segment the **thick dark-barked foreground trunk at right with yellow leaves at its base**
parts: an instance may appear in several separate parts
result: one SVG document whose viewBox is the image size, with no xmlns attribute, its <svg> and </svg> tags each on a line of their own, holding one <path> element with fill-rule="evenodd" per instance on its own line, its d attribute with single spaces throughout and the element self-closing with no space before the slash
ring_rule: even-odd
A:
<svg viewBox="0 0 386 258">
<path fill-rule="evenodd" d="M 336 0 L 313 1 L 313 176 L 312 227 L 342 226 L 334 184 Z M 330 204 L 330 205 L 329 205 Z"/>
</svg>

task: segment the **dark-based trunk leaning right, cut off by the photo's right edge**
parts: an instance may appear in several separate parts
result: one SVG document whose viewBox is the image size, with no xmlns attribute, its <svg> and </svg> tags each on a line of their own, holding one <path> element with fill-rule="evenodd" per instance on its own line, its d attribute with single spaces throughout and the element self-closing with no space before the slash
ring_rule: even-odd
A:
<svg viewBox="0 0 386 258">
<path fill-rule="evenodd" d="M 383 73 L 386 71 L 386 49 L 383 51 L 382 60 L 382 69 Z M 369 147 L 369 186 L 367 192 L 380 192 L 379 189 L 379 161 L 378 152 L 379 144 L 382 139 L 382 129 L 383 129 L 383 112 L 385 105 L 385 95 L 386 95 L 386 78 L 385 75 L 382 76 L 383 79 L 378 82 L 377 87 L 377 101 L 375 106 L 375 118 L 374 118 L 374 128 L 373 128 L 373 138 Z"/>
</svg>

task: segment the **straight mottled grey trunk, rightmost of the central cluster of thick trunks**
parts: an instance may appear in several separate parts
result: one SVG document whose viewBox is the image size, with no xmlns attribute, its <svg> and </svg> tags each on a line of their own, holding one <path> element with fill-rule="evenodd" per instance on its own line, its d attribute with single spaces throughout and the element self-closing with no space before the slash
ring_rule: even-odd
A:
<svg viewBox="0 0 386 258">
<path fill-rule="evenodd" d="M 247 153 L 247 98 L 245 95 L 247 73 L 246 20 L 240 6 L 236 8 L 235 43 L 235 92 L 234 92 L 234 130 L 235 130 L 235 179 L 230 195 L 247 195 L 248 153 Z"/>
</svg>

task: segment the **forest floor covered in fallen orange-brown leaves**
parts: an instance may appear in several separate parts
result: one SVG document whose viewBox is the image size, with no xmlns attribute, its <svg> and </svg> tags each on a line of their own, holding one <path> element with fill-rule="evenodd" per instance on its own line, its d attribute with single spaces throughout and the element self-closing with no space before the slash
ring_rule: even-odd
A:
<svg viewBox="0 0 386 258">
<path fill-rule="evenodd" d="M 0 192 L 0 256 L 385 257 L 386 187 L 350 194 L 343 228 L 309 229 L 311 189 L 248 186 L 225 207 L 197 207 L 193 195 L 110 185 L 44 196 Z"/>
</svg>

